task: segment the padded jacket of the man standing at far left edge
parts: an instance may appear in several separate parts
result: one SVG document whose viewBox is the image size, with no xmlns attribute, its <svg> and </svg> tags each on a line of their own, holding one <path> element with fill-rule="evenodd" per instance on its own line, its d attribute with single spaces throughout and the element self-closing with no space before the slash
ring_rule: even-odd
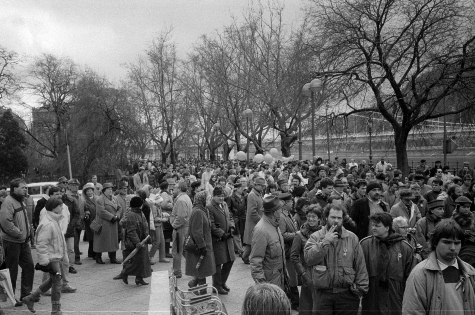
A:
<svg viewBox="0 0 475 315">
<path fill-rule="evenodd" d="M 1 238 L 12 243 L 24 243 L 30 236 L 28 216 L 23 202 L 7 196 L 0 208 Z"/>
</svg>

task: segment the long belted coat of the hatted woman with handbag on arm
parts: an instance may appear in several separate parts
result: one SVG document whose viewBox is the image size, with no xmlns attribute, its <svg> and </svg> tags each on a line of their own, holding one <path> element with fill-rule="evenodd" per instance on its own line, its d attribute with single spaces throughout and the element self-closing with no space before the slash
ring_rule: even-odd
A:
<svg viewBox="0 0 475 315">
<path fill-rule="evenodd" d="M 101 233 L 94 233 L 94 251 L 96 253 L 113 252 L 119 250 L 117 223 L 112 223 L 114 216 L 120 217 L 122 208 L 115 196 L 108 199 L 104 194 L 96 201 L 95 220 L 102 224 Z"/>
</svg>

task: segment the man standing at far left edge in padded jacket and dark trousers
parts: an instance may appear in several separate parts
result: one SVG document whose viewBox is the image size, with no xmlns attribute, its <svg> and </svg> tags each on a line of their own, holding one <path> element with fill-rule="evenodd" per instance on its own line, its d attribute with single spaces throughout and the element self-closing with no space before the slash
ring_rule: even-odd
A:
<svg viewBox="0 0 475 315">
<path fill-rule="evenodd" d="M 28 242 L 32 231 L 23 204 L 26 187 L 21 178 L 10 181 L 10 196 L 5 198 L 0 208 L 0 235 L 5 251 L 5 267 L 10 269 L 13 294 L 17 286 L 18 266 L 21 267 L 20 301 L 30 294 L 35 277 L 35 265 Z M 21 305 L 23 303 L 17 301 L 15 306 Z"/>
</svg>

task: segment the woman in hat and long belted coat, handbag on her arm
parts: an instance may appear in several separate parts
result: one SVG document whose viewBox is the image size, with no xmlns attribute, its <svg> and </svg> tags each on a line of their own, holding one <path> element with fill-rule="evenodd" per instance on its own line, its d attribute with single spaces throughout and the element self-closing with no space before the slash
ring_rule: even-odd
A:
<svg viewBox="0 0 475 315">
<path fill-rule="evenodd" d="M 117 198 L 112 195 L 112 187 L 112 183 L 106 182 L 102 188 L 102 195 L 96 200 L 95 221 L 102 225 L 100 233 L 94 232 L 95 262 L 98 264 L 104 264 L 101 257 L 103 252 L 109 254 L 111 264 L 121 263 L 117 260 L 115 252 L 119 249 L 117 221 L 122 208 Z"/>
</svg>

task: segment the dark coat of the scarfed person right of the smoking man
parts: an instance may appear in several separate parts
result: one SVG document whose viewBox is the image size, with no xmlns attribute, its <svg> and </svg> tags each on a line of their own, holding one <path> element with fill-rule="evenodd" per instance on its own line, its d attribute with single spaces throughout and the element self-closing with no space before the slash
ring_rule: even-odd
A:
<svg viewBox="0 0 475 315">
<path fill-rule="evenodd" d="M 405 240 L 396 241 L 388 249 L 388 288 L 379 285 L 378 263 L 380 260 L 380 240 L 375 236 L 362 239 L 366 269 L 370 279 L 368 294 L 361 300 L 361 314 L 396 314 L 402 309 L 402 296 L 406 280 L 415 266 L 414 250 Z M 386 247 L 386 245 L 383 245 Z"/>
</svg>

